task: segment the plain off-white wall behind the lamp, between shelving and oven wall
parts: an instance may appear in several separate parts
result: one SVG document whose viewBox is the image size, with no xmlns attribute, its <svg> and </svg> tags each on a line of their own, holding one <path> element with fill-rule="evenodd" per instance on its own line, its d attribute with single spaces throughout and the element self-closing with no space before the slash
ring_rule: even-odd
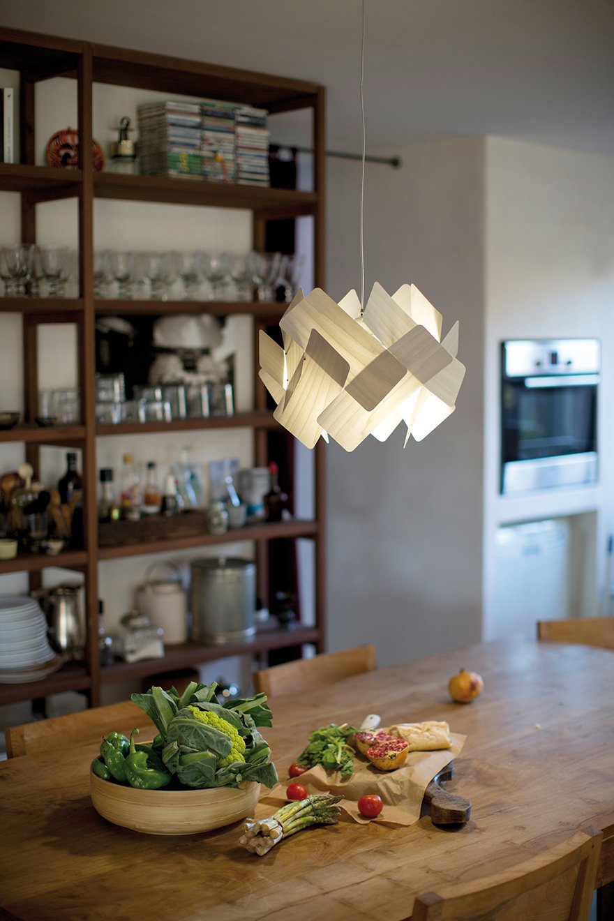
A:
<svg viewBox="0 0 614 921">
<path fill-rule="evenodd" d="M 420 444 L 403 450 L 400 428 L 352 454 L 328 449 L 329 645 L 374 642 L 381 665 L 481 631 L 484 142 L 395 153 L 400 169 L 366 166 L 365 292 L 413 282 L 444 333 L 460 321 L 468 372 L 456 413 Z M 360 164 L 328 168 L 327 288 L 342 297 L 360 286 Z"/>
</svg>

